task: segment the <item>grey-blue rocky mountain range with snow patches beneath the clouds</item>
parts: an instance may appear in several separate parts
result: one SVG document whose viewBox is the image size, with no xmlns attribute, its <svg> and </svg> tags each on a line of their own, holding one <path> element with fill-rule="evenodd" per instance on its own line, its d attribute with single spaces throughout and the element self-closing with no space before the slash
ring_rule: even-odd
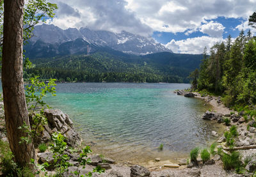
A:
<svg viewBox="0 0 256 177">
<path fill-rule="evenodd" d="M 54 25 L 36 26 L 34 35 L 25 45 L 26 54 L 31 58 L 53 57 L 66 54 L 90 54 L 97 47 L 110 47 L 121 52 L 143 55 L 155 52 L 172 52 L 152 38 L 134 35 L 126 31 L 112 33 L 81 29 L 60 29 Z M 64 49 L 64 50 L 63 50 Z"/>
</svg>

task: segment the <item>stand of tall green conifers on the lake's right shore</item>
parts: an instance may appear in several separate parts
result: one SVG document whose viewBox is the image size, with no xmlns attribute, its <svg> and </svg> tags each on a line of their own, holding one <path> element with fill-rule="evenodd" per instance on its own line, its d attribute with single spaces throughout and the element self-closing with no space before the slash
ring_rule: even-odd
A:
<svg viewBox="0 0 256 177">
<path fill-rule="evenodd" d="M 224 43 L 211 48 L 211 56 L 205 56 L 200 70 L 191 73 L 193 88 L 223 95 L 227 106 L 256 104 L 256 39 L 250 31 L 232 42 L 231 37 Z"/>
</svg>

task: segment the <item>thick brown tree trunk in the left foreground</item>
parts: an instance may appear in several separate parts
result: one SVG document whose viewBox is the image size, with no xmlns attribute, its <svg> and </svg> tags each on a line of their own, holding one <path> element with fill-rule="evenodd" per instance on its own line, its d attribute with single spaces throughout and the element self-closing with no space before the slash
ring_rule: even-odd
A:
<svg viewBox="0 0 256 177">
<path fill-rule="evenodd" d="M 28 136 L 19 127 L 24 123 L 29 125 L 22 78 L 23 13 L 24 0 L 4 1 L 2 61 L 4 116 L 10 148 L 20 166 L 28 165 L 30 158 L 35 156 L 33 143 L 19 144 L 20 137 Z"/>
</svg>

